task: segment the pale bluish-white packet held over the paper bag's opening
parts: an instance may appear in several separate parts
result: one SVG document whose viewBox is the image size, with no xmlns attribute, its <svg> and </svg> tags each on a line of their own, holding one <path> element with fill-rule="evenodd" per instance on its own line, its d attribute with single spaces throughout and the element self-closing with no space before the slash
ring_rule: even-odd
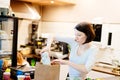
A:
<svg viewBox="0 0 120 80">
<path fill-rule="evenodd" d="M 44 52 L 44 53 L 41 54 L 41 63 L 46 64 L 46 65 L 51 64 L 48 52 Z"/>
</svg>

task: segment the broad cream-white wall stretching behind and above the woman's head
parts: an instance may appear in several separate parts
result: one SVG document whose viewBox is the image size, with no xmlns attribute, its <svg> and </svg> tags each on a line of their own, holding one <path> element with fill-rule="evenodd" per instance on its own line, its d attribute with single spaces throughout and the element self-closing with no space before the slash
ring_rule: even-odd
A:
<svg viewBox="0 0 120 80">
<path fill-rule="evenodd" d="M 107 46 L 108 33 L 112 32 L 111 46 L 119 49 L 117 42 L 120 40 L 118 34 L 120 29 L 120 0 L 76 1 L 75 6 L 45 6 L 41 33 L 74 34 L 74 26 L 81 21 L 101 23 L 103 24 L 102 45 Z"/>
</svg>

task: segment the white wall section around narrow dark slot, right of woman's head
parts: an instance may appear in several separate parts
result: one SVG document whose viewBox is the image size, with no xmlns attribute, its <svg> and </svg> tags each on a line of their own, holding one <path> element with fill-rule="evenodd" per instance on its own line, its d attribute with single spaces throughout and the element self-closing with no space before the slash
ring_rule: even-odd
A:
<svg viewBox="0 0 120 80">
<path fill-rule="evenodd" d="M 107 46 L 108 43 L 108 34 L 112 33 L 111 45 L 110 47 L 120 50 L 120 24 L 103 24 L 102 27 L 102 40 L 101 43 L 104 46 Z"/>
</svg>

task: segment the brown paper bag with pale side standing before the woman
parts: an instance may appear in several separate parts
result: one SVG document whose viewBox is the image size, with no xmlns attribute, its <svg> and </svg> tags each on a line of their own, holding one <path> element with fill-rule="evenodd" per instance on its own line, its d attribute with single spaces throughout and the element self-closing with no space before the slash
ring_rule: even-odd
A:
<svg viewBox="0 0 120 80">
<path fill-rule="evenodd" d="M 66 80 L 67 65 L 43 65 L 39 62 L 35 66 L 35 80 Z"/>
</svg>

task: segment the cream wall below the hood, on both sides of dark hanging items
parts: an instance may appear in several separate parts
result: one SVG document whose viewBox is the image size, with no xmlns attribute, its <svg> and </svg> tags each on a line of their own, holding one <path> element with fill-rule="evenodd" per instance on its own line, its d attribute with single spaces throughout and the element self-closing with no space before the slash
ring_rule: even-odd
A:
<svg viewBox="0 0 120 80">
<path fill-rule="evenodd" d="M 18 49 L 20 49 L 20 45 L 25 45 L 28 43 L 28 39 L 30 37 L 30 29 L 32 26 L 32 20 L 19 20 L 19 26 L 18 26 Z M 38 23 L 38 38 L 41 33 L 41 22 Z"/>
</svg>

